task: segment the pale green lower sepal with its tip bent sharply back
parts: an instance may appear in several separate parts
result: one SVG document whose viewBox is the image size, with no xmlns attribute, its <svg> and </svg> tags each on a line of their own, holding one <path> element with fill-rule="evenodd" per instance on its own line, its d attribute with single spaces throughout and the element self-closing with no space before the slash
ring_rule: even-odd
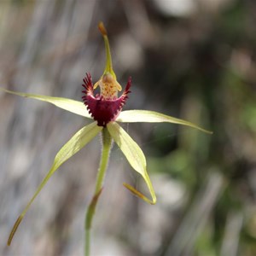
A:
<svg viewBox="0 0 256 256">
<path fill-rule="evenodd" d="M 145 182 L 147 183 L 152 200 L 149 200 L 146 196 L 144 196 L 126 183 L 124 184 L 125 187 L 127 189 L 130 189 L 131 192 L 135 195 L 141 197 L 144 201 L 147 201 L 150 204 L 155 204 L 156 197 L 154 194 L 152 183 L 148 177 L 148 172 L 146 170 L 146 159 L 142 149 L 117 123 L 110 122 L 108 123 L 107 128 L 111 137 L 113 137 L 114 142 L 119 145 L 119 148 L 125 154 L 125 157 L 129 161 L 131 167 L 143 176 Z"/>
</svg>

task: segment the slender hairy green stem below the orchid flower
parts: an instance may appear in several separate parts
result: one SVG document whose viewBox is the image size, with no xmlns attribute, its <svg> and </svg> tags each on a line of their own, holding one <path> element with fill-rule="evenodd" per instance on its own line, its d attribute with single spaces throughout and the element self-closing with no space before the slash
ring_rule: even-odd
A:
<svg viewBox="0 0 256 256">
<path fill-rule="evenodd" d="M 99 199 L 99 196 L 102 193 L 102 183 L 108 167 L 108 159 L 110 155 L 111 145 L 112 145 L 112 137 L 108 133 L 108 129 L 104 128 L 102 130 L 102 159 L 100 162 L 100 166 L 99 166 L 98 174 L 96 178 L 95 193 L 90 201 L 90 205 L 87 209 L 86 216 L 85 216 L 85 245 L 84 245 L 85 256 L 90 255 L 90 228 L 92 224 L 92 219 L 96 211 L 97 201 Z"/>
</svg>

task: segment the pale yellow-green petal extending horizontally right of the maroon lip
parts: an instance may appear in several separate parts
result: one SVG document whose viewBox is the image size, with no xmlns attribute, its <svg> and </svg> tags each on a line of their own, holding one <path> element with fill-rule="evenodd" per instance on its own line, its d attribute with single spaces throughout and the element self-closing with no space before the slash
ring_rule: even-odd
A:
<svg viewBox="0 0 256 256">
<path fill-rule="evenodd" d="M 169 116 L 163 113 L 158 113 L 158 112 L 148 111 L 148 110 L 123 111 L 119 114 L 119 117 L 116 119 L 116 121 L 123 122 L 123 123 L 137 123 L 137 122 L 163 123 L 165 122 L 165 123 L 172 123 L 172 124 L 178 124 L 178 125 L 187 125 L 195 129 L 198 129 L 200 131 L 204 131 L 209 134 L 212 134 L 212 131 L 207 131 L 205 129 L 202 129 L 198 125 L 194 125 L 193 123 L 190 123 L 183 119 L 176 119 L 172 116 Z"/>
</svg>

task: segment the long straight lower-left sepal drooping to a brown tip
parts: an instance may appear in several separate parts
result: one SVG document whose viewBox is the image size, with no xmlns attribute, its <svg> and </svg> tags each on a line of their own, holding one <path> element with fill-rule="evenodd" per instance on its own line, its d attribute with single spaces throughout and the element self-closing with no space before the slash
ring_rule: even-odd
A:
<svg viewBox="0 0 256 256">
<path fill-rule="evenodd" d="M 36 190 L 35 194 L 32 196 L 31 201 L 26 205 L 26 208 L 23 212 L 21 212 L 20 217 L 17 219 L 8 240 L 8 245 L 10 245 L 13 236 L 15 235 L 15 231 L 17 230 L 20 221 L 25 216 L 26 212 L 28 211 L 29 207 L 31 207 L 32 202 L 35 200 L 41 189 L 44 188 L 45 183 L 49 180 L 49 177 L 51 177 L 54 172 L 70 157 L 72 157 L 74 154 L 79 152 L 81 148 L 84 148 L 84 146 L 90 142 L 91 139 L 96 137 L 96 135 L 102 131 L 102 127 L 97 126 L 96 122 L 91 123 L 90 125 L 84 126 L 81 130 L 79 130 L 62 148 L 61 150 L 56 154 L 55 160 L 53 165 L 51 166 L 49 172 L 44 177 L 44 180 L 40 185 L 38 186 L 38 189 Z"/>
</svg>

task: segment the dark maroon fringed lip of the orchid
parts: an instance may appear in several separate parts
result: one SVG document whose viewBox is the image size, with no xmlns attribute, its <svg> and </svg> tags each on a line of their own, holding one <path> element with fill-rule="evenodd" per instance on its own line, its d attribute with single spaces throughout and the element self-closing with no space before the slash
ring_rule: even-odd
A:
<svg viewBox="0 0 256 256">
<path fill-rule="evenodd" d="M 105 127 L 108 122 L 117 118 L 124 107 L 128 94 L 131 92 L 131 78 L 128 79 L 123 94 L 116 99 L 106 99 L 98 94 L 94 96 L 90 73 L 86 74 L 83 87 L 84 96 L 82 96 L 82 99 L 85 106 L 93 119 L 97 121 L 97 125 Z"/>
</svg>

